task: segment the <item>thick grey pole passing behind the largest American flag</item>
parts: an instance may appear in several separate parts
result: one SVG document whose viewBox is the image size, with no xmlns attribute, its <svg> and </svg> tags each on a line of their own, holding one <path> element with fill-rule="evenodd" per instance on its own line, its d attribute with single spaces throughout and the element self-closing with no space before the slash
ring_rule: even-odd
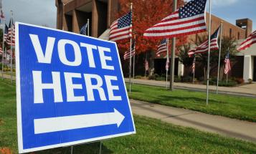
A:
<svg viewBox="0 0 256 154">
<path fill-rule="evenodd" d="M 177 9 L 177 0 L 174 0 L 173 12 Z M 176 37 L 171 42 L 170 90 L 174 90 L 174 64 L 175 64 Z"/>
</svg>

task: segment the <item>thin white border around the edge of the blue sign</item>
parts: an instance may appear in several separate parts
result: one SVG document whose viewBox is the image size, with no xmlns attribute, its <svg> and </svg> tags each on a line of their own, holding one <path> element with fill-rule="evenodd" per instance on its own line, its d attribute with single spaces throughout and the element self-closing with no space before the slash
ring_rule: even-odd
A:
<svg viewBox="0 0 256 154">
<path fill-rule="evenodd" d="M 78 141 L 74 141 L 74 142 L 70 142 L 70 143 L 61 143 L 61 144 L 56 144 L 56 145 L 47 145 L 47 146 L 43 146 L 43 147 L 39 147 L 39 148 L 30 148 L 30 149 L 23 149 L 23 138 L 22 138 L 22 104 L 21 104 L 21 91 L 20 91 L 20 74 L 19 74 L 19 24 L 23 24 L 23 25 L 27 25 L 30 27 L 38 27 L 38 28 L 43 28 L 43 29 L 49 29 L 49 30 L 54 30 L 54 31 L 58 31 L 58 32 L 65 32 L 68 34 L 75 34 L 72 32 L 66 32 L 60 29 L 52 29 L 52 28 L 48 28 L 48 27 L 40 27 L 37 25 L 33 25 L 33 24 L 24 24 L 22 22 L 15 22 L 15 57 L 16 57 L 16 112 L 17 112 L 17 131 L 18 131 L 18 145 L 19 145 L 19 153 L 29 153 L 32 151 L 37 151 L 37 150 L 46 150 L 46 149 L 50 149 L 50 148 L 59 148 L 59 147 L 65 147 L 65 146 L 69 146 L 69 145 L 77 145 L 77 144 L 81 144 L 81 143 L 90 143 L 96 140 L 105 140 L 108 138 L 116 138 L 116 137 L 120 137 L 120 136 L 124 136 L 124 135 L 131 135 L 131 134 L 135 134 L 136 133 L 136 127 L 134 125 L 134 120 L 133 120 L 133 113 L 131 111 L 131 104 L 130 104 L 130 100 L 128 98 L 128 94 L 127 94 L 127 90 L 126 90 L 126 86 L 125 86 L 125 93 L 126 93 L 126 97 L 128 100 L 128 105 L 129 105 L 129 109 L 131 112 L 131 118 L 133 120 L 133 132 L 129 132 L 129 133 L 121 133 L 121 134 L 117 134 L 117 135 L 108 135 L 108 136 L 104 136 L 104 137 L 100 137 L 100 138 L 90 138 L 87 140 L 78 140 Z M 79 35 L 81 37 L 85 37 L 85 35 L 82 34 L 75 34 L 75 35 Z M 86 36 L 87 37 L 87 36 Z M 91 39 L 98 39 L 95 37 L 90 37 Z M 100 41 L 105 41 L 102 39 L 98 39 Z M 105 41 L 105 42 L 110 42 L 110 41 Z M 114 43 L 115 44 L 115 48 L 118 51 L 118 47 L 116 42 L 110 42 L 110 43 Z M 118 52 L 118 60 L 119 60 L 119 64 L 120 64 L 120 72 L 122 74 L 123 77 L 123 71 L 122 71 L 122 66 L 121 66 L 121 62 L 120 62 L 120 56 L 119 56 L 119 52 Z M 123 77 L 123 84 L 125 85 L 125 80 Z"/>
</svg>

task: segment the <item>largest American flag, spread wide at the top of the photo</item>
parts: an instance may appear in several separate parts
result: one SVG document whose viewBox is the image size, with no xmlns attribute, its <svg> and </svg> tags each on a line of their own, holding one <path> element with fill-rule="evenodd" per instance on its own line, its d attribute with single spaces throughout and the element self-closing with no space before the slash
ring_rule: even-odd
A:
<svg viewBox="0 0 256 154">
<path fill-rule="evenodd" d="M 207 0 L 191 0 L 146 30 L 146 38 L 180 37 L 207 30 L 204 15 Z"/>
</svg>

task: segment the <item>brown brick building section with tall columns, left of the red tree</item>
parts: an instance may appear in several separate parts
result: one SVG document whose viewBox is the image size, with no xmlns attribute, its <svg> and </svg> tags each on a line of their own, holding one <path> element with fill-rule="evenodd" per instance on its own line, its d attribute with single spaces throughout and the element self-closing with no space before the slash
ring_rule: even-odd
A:
<svg viewBox="0 0 256 154">
<path fill-rule="evenodd" d="M 56 0 L 57 29 L 79 33 L 90 19 L 90 36 L 100 37 L 115 20 L 118 0 Z"/>
</svg>

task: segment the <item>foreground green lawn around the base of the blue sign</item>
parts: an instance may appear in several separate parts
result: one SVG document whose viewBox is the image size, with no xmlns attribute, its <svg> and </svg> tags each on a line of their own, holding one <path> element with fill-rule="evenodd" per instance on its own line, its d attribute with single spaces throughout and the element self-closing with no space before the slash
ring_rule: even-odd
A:
<svg viewBox="0 0 256 154">
<path fill-rule="evenodd" d="M 136 135 L 103 141 L 102 153 L 256 153 L 255 143 L 134 117 Z M 8 151 L 17 153 L 15 86 L 0 79 L 0 153 Z M 70 153 L 70 147 L 36 153 Z M 76 145 L 74 153 L 99 153 L 99 143 Z"/>
</svg>

